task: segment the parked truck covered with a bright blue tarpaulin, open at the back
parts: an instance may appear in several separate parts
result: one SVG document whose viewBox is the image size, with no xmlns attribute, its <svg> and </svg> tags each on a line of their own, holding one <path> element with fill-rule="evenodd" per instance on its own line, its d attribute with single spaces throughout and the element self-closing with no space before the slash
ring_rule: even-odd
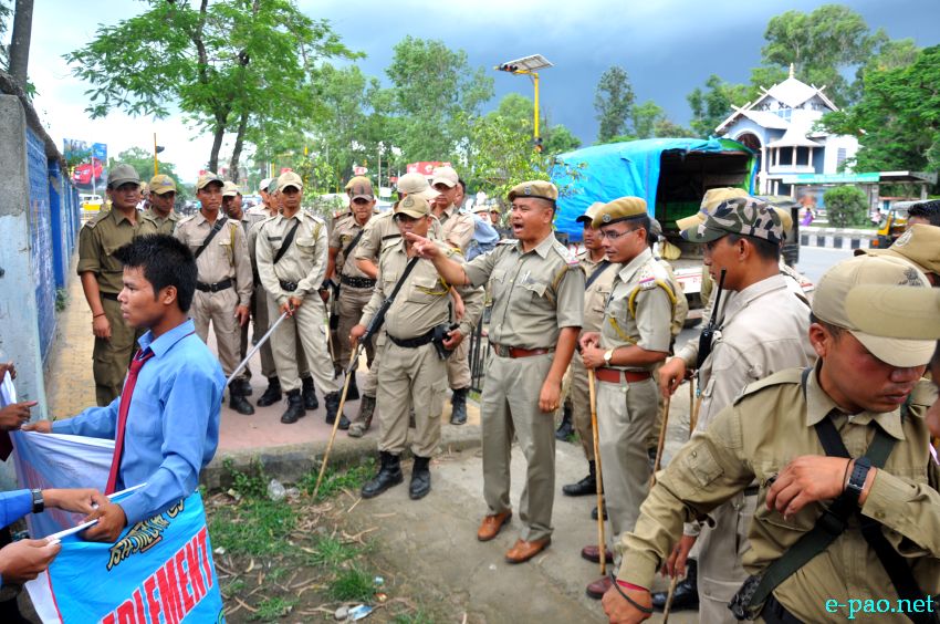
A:
<svg viewBox="0 0 940 624">
<path fill-rule="evenodd" d="M 552 171 L 560 190 L 555 227 L 571 241 L 579 241 L 583 228 L 575 219 L 595 201 L 625 196 L 645 199 L 649 216 L 675 246 L 667 259 L 689 301 L 687 323 L 696 323 L 702 315 L 702 252 L 700 245 L 679 236 L 676 220 L 698 212 L 711 188 L 738 187 L 753 194 L 755 173 L 756 155 L 725 138 L 649 138 L 568 152 L 557 157 Z M 800 257 L 800 205 L 790 197 L 762 199 L 793 217 L 783 257 L 794 266 Z M 807 292 L 813 289 L 805 279 L 801 285 Z"/>
</svg>

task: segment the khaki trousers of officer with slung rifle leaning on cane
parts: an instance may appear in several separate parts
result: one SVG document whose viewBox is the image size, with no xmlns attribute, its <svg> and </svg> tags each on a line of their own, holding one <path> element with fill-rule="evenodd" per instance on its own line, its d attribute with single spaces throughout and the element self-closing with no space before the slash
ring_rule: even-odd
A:
<svg viewBox="0 0 940 624">
<path fill-rule="evenodd" d="M 411 453 L 432 457 L 440 445 L 440 410 L 447 392 L 443 361 L 434 344 L 417 349 L 390 340 L 382 349 L 378 371 L 378 449 L 401 455 L 408 441 L 408 412 L 415 408 Z"/>
</svg>

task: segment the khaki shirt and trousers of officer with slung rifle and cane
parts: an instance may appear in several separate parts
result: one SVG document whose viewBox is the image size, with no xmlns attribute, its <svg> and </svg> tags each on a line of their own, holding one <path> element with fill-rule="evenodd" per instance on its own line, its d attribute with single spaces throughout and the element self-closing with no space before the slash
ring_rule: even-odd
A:
<svg viewBox="0 0 940 624">
<path fill-rule="evenodd" d="M 441 245 L 447 256 L 460 259 L 459 252 Z M 382 302 L 391 294 L 408 264 L 405 241 L 389 242 L 379 260 L 378 284 L 363 311 L 363 325 L 368 325 Z M 458 289 L 469 309 L 482 308 L 482 292 Z M 450 285 L 438 274 L 430 260 L 418 260 L 408 274 L 385 316 L 382 368 L 378 371 L 377 405 L 379 418 L 378 449 L 400 455 L 408 435 L 408 410 L 415 409 L 416 431 L 411 453 L 431 457 L 440 444 L 440 410 L 447 391 L 445 360 L 430 343 L 434 329 L 448 322 Z M 469 335 L 473 326 L 461 327 Z"/>
</svg>

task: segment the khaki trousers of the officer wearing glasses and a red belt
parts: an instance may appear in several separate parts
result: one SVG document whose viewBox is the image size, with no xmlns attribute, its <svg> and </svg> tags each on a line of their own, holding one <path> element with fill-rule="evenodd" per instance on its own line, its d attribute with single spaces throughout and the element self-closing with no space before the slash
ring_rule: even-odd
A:
<svg viewBox="0 0 940 624">
<path fill-rule="evenodd" d="M 597 433 L 610 544 L 633 531 L 649 491 L 646 439 L 656 418 L 656 382 L 597 383 Z"/>
</svg>

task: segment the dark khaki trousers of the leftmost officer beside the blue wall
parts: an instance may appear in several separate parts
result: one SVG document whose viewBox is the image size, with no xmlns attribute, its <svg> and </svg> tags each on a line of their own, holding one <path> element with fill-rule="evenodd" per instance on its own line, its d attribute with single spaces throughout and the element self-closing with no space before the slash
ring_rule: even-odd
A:
<svg viewBox="0 0 940 624">
<path fill-rule="evenodd" d="M 95 377 L 95 401 L 103 407 L 121 396 L 127 367 L 137 351 L 137 336 L 143 332 L 127 324 L 121 315 L 121 303 L 105 298 L 101 303 L 111 323 L 111 339 L 95 337 L 92 373 Z"/>
</svg>

